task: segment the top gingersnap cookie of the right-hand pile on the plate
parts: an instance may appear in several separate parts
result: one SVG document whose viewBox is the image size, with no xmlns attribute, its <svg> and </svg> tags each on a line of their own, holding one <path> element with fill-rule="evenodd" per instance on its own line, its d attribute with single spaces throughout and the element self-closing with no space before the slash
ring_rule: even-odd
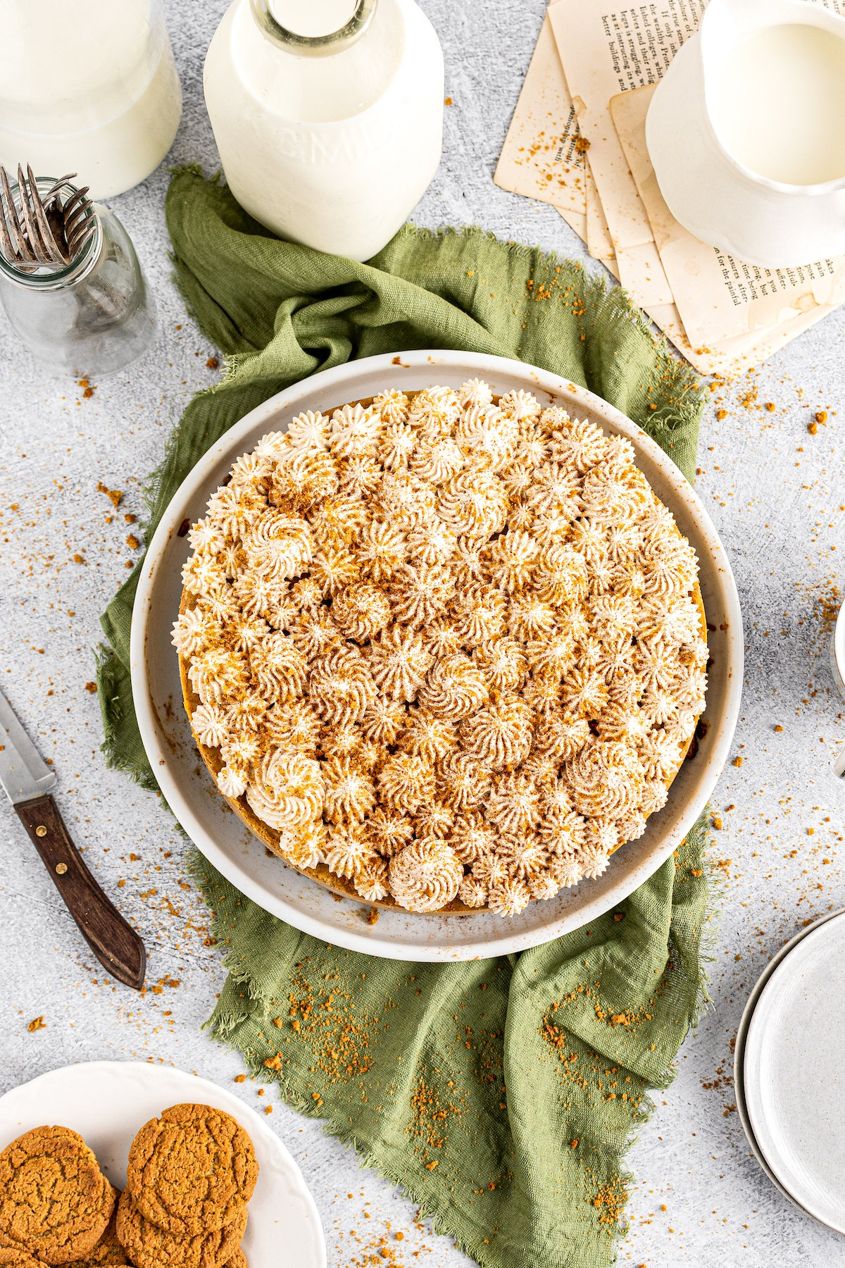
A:
<svg viewBox="0 0 845 1268">
<path fill-rule="evenodd" d="M 177 1236 L 241 1219 L 258 1164 L 241 1125 L 212 1106 L 177 1104 L 146 1123 L 129 1149 L 127 1187 L 151 1224 Z"/>
</svg>

